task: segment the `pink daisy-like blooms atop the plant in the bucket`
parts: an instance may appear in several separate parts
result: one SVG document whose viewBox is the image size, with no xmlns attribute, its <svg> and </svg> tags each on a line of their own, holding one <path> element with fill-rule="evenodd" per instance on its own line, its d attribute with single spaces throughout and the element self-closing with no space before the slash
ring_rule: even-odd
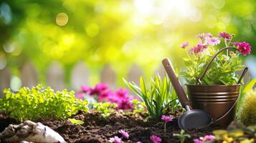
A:
<svg viewBox="0 0 256 143">
<path fill-rule="evenodd" d="M 227 34 L 227 32 L 219 32 L 218 37 L 214 37 L 212 34 L 198 34 L 195 37 L 199 38 L 198 44 L 196 46 L 193 46 L 190 51 L 192 54 L 198 54 L 205 49 L 207 49 L 209 46 L 216 46 L 220 44 L 220 38 L 223 38 L 225 41 L 226 46 L 229 46 L 230 41 L 232 40 L 233 34 Z M 246 54 L 250 54 L 251 46 L 247 42 L 243 41 L 240 43 L 232 43 L 234 46 L 239 49 L 239 51 L 245 56 Z M 184 44 L 180 45 L 182 49 L 185 49 L 187 46 L 189 46 L 189 42 L 185 42 Z"/>
</svg>

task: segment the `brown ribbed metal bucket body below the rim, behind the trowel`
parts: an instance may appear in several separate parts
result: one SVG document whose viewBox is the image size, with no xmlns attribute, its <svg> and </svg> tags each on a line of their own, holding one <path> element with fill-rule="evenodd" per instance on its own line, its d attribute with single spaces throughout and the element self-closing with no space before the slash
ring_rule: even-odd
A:
<svg viewBox="0 0 256 143">
<path fill-rule="evenodd" d="M 186 85 L 193 109 L 202 109 L 222 127 L 234 121 L 237 99 L 242 84 Z"/>
</svg>

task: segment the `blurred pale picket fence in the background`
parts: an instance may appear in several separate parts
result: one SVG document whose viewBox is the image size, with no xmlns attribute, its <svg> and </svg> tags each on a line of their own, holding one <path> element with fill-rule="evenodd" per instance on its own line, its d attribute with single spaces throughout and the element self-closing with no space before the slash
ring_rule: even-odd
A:
<svg viewBox="0 0 256 143">
<path fill-rule="evenodd" d="M 156 72 L 160 73 L 161 76 L 164 74 L 164 69 L 159 66 Z M 20 79 L 22 80 L 22 87 L 33 87 L 39 84 L 38 71 L 29 62 L 25 62 L 19 70 Z M 89 85 L 90 82 L 90 69 L 82 62 L 79 61 L 73 67 L 70 76 L 70 89 L 79 90 L 81 85 Z M 116 88 L 117 74 L 109 64 L 105 64 L 103 69 L 100 71 L 100 82 L 109 84 L 112 89 Z M 127 79 L 138 83 L 139 77 L 143 76 L 143 71 L 140 66 L 133 64 L 131 69 L 128 71 Z M 11 84 L 11 71 L 9 69 L 0 70 L 0 97 L 3 96 L 3 89 L 9 88 Z M 56 61 L 49 64 L 46 74 L 46 83 L 52 89 L 62 90 L 67 88 L 65 85 L 65 70 Z M 67 88 L 68 89 L 68 88 Z"/>
</svg>

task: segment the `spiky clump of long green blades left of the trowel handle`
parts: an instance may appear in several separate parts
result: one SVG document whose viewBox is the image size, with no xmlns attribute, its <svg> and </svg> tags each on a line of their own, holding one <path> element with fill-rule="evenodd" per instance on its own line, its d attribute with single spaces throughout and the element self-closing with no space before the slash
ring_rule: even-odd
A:
<svg viewBox="0 0 256 143">
<path fill-rule="evenodd" d="M 146 88 L 143 77 L 140 79 L 140 87 L 134 82 L 125 84 L 144 102 L 148 109 L 149 116 L 155 119 L 160 119 L 168 108 L 175 111 L 180 105 L 176 103 L 176 92 L 171 88 L 171 82 L 168 77 L 161 77 L 157 74 L 154 79 L 151 79 L 151 87 Z"/>
</svg>

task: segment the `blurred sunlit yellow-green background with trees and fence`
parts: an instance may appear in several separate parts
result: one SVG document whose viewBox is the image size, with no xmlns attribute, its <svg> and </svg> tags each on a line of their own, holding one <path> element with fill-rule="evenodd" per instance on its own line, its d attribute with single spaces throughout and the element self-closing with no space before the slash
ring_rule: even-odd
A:
<svg viewBox="0 0 256 143">
<path fill-rule="evenodd" d="M 235 34 L 252 46 L 244 58 L 256 77 L 255 0 L 0 0 L 0 89 L 77 90 L 138 82 L 169 57 L 183 67 L 179 44 L 202 32 Z"/>
</svg>

